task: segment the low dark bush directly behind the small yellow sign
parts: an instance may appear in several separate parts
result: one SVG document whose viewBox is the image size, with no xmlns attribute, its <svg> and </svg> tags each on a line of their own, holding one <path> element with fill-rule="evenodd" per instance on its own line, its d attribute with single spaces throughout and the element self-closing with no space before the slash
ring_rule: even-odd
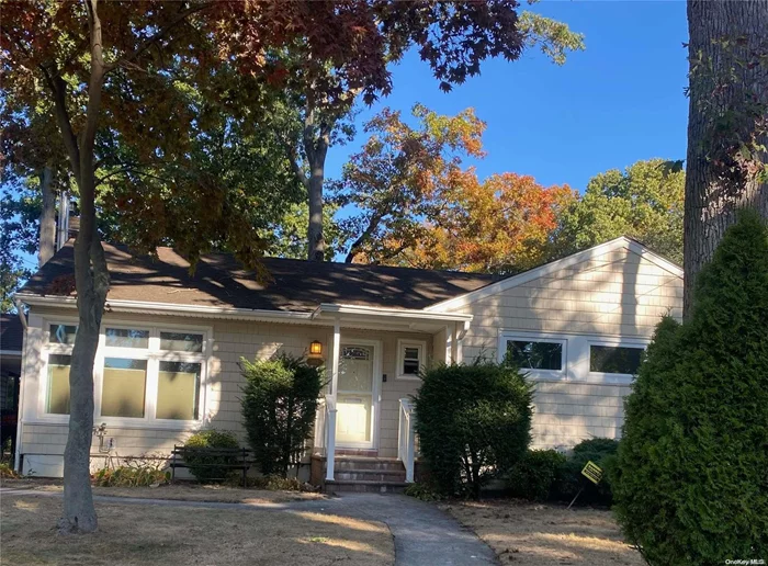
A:
<svg viewBox="0 0 768 566">
<path fill-rule="evenodd" d="M 584 488 L 576 505 L 611 505 L 613 495 L 610 471 L 618 450 L 619 441 L 613 439 L 589 439 L 576 444 L 573 453 L 568 455 L 565 465 L 561 468 L 555 487 L 557 498 L 571 501 L 578 494 L 578 490 Z M 602 468 L 602 479 L 597 485 L 581 474 L 581 469 L 589 461 Z"/>
</svg>

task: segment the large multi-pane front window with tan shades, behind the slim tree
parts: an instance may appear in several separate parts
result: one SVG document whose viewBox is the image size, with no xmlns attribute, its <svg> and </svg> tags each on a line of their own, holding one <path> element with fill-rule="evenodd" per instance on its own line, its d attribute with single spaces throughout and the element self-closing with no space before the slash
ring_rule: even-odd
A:
<svg viewBox="0 0 768 566">
<path fill-rule="evenodd" d="M 69 414 L 69 369 L 77 327 L 49 325 L 43 414 Z M 106 324 L 94 377 L 95 418 L 174 427 L 202 419 L 207 330 Z"/>
</svg>

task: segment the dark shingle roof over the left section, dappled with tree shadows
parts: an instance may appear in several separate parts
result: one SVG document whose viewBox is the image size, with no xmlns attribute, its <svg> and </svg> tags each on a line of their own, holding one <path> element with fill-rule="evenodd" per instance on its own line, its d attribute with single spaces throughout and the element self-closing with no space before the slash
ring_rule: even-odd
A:
<svg viewBox="0 0 768 566">
<path fill-rule="evenodd" d="M 203 256 L 194 274 L 171 248 L 158 258 L 132 257 L 104 245 L 111 287 L 108 299 L 270 310 L 315 309 L 320 303 L 421 309 L 474 291 L 497 276 L 347 263 L 264 258 L 272 281 L 258 283 L 225 253 Z M 72 245 L 67 244 L 24 286 L 23 293 L 74 295 Z"/>
</svg>

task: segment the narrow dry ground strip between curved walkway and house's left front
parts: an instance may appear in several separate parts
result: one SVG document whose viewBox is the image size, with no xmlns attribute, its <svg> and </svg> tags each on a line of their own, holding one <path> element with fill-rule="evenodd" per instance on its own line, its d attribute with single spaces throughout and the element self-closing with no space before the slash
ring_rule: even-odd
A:
<svg viewBox="0 0 768 566">
<path fill-rule="evenodd" d="M 3 479 L 2 487 L 63 491 L 60 480 L 43 478 Z M 221 485 L 174 484 L 159 487 L 94 487 L 93 495 L 112 497 L 136 497 L 142 499 L 172 499 L 185 501 L 218 501 L 224 503 L 282 503 L 324 499 L 323 494 L 304 491 L 271 491 L 242 489 Z"/>
</svg>

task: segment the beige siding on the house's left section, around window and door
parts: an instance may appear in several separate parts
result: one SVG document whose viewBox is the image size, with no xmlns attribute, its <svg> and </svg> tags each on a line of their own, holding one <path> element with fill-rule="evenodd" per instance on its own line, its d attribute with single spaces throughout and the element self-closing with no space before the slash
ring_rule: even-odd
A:
<svg viewBox="0 0 768 566">
<path fill-rule="evenodd" d="M 69 318 L 72 310 L 35 309 L 32 319 L 43 317 L 43 328 L 47 321 Z M 264 359 L 278 351 L 301 355 L 306 352 L 309 342 L 320 340 L 324 354 L 328 355 L 332 328 L 307 325 L 286 325 L 272 322 L 246 322 L 235 320 L 210 320 L 170 316 L 106 315 L 104 325 L 110 321 L 136 321 L 144 326 L 193 326 L 210 327 L 213 336 L 213 351 L 207 367 L 207 388 L 205 392 L 205 427 L 230 430 L 245 443 L 241 427 L 240 390 L 244 377 L 238 362 L 240 358 Z M 25 375 L 27 388 L 24 405 L 22 451 L 25 456 L 25 471 L 34 469 L 38 475 L 60 475 L 61 455 L 67 440 L 66 423 L 46 423 L 37 418 L 37 382 L 42 371 L 38 349 L 43 343 L 44 332 L 32 329 L 31 336 L 37 349 L 30 348 L 27 360 L 30 372 Z M 418 382 L 396 378 L 397 340 L 399 338 L 423 340 L 427 355 L 431 355 L 431 335 L 387 332 L 373 330 L 341 329 L 341 340 L 358 339 L 380 340 L 382 343 L 382 374 L 387 376 L 381 384 L 379 453 L 382 456 L 397 455 L 398 399 L 416 392 Z M 382 380 L 382 375 L 374 376 Z M 99 421 L 99 417 L 95 418 Z M 191 430 L 151 429 L 144 427 L 108 426 L 108 438 L 113 438 L 115 455 L 168 454 L 174 443 L 181 443 L 192 433 Z M 98 454 L 98 439 L 94 438 L 92 453 Z"/>
</svg>

